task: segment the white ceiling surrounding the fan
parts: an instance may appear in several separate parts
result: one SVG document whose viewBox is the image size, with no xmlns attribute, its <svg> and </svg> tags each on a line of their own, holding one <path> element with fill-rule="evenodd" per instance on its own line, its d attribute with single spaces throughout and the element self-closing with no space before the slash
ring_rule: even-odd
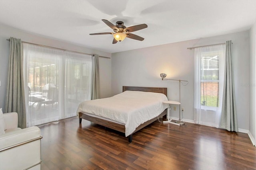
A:
<svg viewBox="0 0 256 170">
<path fill-rule="evenodd" d="M 126 27 L 144 41 L 112 44 L 102 19 Z M 110 53 L 250 29 L 256 0 L 0 0 L 0 23 Z"/>
</svg>

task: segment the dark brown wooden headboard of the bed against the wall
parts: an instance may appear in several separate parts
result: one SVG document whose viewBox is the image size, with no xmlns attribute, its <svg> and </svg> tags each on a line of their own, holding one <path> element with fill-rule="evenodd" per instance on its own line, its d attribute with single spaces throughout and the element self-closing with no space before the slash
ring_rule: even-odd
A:
<svg viewBox="0 0 256 170">
<path fill-rule="evenodd" d="M 126 91 L 126 90 L 163 93 L 163 94 L 165 94 L 165 96 L 167 96 L 167 88 L 165 88 L 165 87 L 133 87 L 133 86 L 123 86 L 123 92 Z"/>
</svg>

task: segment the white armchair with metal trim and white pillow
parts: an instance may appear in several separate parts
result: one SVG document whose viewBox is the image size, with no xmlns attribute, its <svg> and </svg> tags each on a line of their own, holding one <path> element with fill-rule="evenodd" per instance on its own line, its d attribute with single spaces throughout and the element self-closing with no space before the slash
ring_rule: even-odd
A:
<svg viewBox="0 0 256 170">
<path fill-rule="evenodd" d="M 3 115 L 6 130 L 0 134 L 0 170 L 40 170 L 40 129 L 36 126 L 20 129 L 17 113 Z"/>
</svg>

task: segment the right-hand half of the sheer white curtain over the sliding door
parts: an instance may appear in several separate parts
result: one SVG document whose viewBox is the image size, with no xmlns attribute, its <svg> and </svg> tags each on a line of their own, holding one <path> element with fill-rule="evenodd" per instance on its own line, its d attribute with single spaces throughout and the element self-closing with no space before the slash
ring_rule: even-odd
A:
<svg viewBox="0 0 256 170">
<path fill-rule="evenodd" d="M 78 105 L 92 97 L 92 56 L 65 51 L 65 57 L 65 115 L 62 119 L 75 116 Z"/>
</svg>

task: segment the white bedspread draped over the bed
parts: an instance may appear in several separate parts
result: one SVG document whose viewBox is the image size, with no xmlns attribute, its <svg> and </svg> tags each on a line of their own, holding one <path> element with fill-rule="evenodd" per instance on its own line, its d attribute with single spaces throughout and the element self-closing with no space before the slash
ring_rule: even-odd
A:
<svg viewBox="0 0 256 170">
<path fill-rule="evenodd" d="M 125 91 L 110 98 L 88 100 L 80 103 L 80 111 L 98 115 L 125 125 L 126 137 L 140 124 L 160 115 L 168 104 L 164 94 L 153 92 Z"/>
</svg>

